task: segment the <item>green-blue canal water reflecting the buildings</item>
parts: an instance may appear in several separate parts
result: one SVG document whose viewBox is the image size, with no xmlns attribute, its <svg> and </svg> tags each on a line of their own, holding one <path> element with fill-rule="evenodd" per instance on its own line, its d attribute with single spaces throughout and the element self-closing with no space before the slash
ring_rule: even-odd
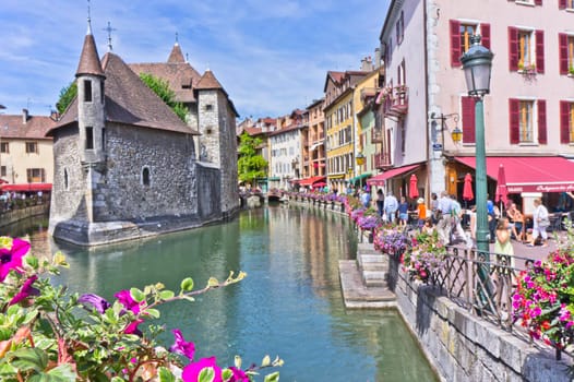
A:
<svg viewBox="0 0 574 382">
<path fill-rule="evenodd" d="M 177 289 L 191 276 L 196 287 L 229 271 L 248 277 L 195 302 L 162 307 L 167 332 L 179 327 L 195 342 L 195 357 L 232 365 L 285 360 L 282 381 L 437 381 L 394 310 L 347 310 L 338 260 L 354 259 L 349 219 L 323 211 L 270 206 L 242 212 L 227 224 L 86 250 L 55 243 L 44 220 L 2 235 L 31 234 L 36 252 L 64 252 L 70 270 L 55 280 L 108 299 L 120 289 L 164 283 Z M 261 378 L 258 380 L 262 380 Z"/>
</svg>

